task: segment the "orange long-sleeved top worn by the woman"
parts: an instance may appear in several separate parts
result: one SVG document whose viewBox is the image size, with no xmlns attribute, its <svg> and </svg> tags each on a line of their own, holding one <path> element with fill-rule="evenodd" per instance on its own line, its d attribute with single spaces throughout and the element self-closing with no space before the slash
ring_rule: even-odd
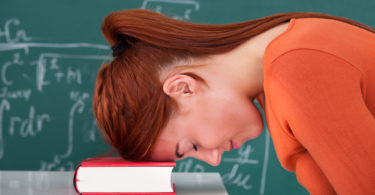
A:
<svg viewBox="0 0 375 195">
<path fill-rule="evenodd" d="M 311 194 L 375 194 L 375 34 L 292 18 L 263 64 L 257 100 L 282 166 Z"/>
</svg>

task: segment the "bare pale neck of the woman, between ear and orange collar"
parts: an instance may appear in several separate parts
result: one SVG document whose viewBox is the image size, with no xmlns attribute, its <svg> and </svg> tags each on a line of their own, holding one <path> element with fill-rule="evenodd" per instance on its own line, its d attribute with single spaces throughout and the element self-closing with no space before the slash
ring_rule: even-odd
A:
<svg viewBox="0 0 375 195">
<path fill-rule="evenodd" d="M 263 95 L 263 57 L 267 46 L 286 30 L 289 22 L 252 37 L 230 52 L 209 56 L 198 72 L 212 87 L 247 96 L 251 100 Z M 195 69 L 197 71 L 197 69 Z"/>
</svg>

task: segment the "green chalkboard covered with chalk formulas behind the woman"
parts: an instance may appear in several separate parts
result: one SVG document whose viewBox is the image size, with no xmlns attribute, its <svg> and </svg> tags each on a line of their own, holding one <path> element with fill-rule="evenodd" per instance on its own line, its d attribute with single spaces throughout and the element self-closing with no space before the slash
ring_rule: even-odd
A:
<svg viewBox="0 0 375 195">
<path fill-rule="evenodd" d="M 1 170 L 71 171 L 107 150 L 91 108 L 98 68 L 111 59 L 100 25 L 110 12 L 131 8 L 211 24 L 309 11 L 375 26 L 371 0 L 1 1 Z M 219 172 L 229 194 L 307 194 L 280 166 L 265 127 L 259 138 L 225 153 L 218 167 L 185 159 L 174 171 Z"/>
</svg>

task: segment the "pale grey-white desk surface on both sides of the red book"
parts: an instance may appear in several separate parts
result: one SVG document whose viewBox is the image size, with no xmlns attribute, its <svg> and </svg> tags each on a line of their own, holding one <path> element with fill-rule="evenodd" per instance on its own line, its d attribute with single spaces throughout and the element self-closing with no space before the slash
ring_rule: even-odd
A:
<svg viewBox="0 0 375 195">
<path fill-rule="evenodd" d="M 0 171 L 0 195 L 76 195 L 74 172 Z M 173 173 L 178 195 L 228 195 L 219 173 Z"/>
</svg>

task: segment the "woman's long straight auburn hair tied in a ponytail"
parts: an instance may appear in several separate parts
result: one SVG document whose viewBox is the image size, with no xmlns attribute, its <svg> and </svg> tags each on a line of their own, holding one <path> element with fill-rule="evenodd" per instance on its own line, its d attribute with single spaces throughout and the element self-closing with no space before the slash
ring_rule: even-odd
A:
<svg viewBox="0 0 375 195">
<path fill-rule="evenodd" d="M 126 160 L 149 160 L 159 133 L 178 109 L 163 92 L 164 70 L 228 52 L 291 18 L 306 17 L 335 19 L 375 32 L 347 18 L 313 12 L 279 13 L 225 25 L 190 23 L 144 9 L 110 13 L 101 26 L 104 37 L 111 46 L 121 39 L 131 46 L 97 74 L 93 110 L 105 141 Z M 185 74 L 204 82 L 199 75 Z"/>
</svg>

